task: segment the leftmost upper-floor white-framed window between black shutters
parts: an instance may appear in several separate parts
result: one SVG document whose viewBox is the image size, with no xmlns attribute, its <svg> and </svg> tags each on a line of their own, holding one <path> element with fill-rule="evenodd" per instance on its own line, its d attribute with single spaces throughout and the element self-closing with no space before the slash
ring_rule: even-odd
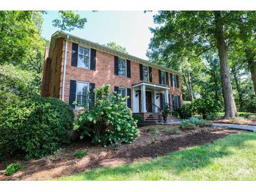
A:
<svg viewBox="0 0 256 192">
<path fill-rule="evenodd" d="M 90 48 L 79 46 L 77 67 L 90 69 Z"/>
</svg>

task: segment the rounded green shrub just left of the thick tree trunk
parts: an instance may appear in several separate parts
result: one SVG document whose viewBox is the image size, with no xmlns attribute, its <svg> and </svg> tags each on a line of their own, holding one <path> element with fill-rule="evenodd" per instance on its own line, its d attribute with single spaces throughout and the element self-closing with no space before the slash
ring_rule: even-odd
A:
<svg viewBox="0 0 256 192">
<path fill-rule="evenodd" d="M 207 119 L 208 116 L 217 116 L 217 112 L 220 111 L 220 102 L 216 102 L 210 97 L 196 99 L 193 102 L 194 109 L 197 114 L 200 114 L 203 119 Z"/>
</svg>

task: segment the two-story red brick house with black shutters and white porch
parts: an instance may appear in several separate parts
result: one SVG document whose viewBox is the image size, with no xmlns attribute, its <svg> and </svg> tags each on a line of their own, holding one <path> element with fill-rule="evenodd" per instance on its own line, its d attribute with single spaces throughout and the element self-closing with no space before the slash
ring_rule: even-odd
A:
<svg viewBox="0 0 256 192">
<path fill-rule="evenodd" d="M 74 109 L 74 101 L 93 102 L 93 89 L 107 83 L 111 90 L 129 95 L 133 113 L 157 113 L 163 104 L 177 109 L 182 103 L 180 73 L 64 32 L 55 32 L 46 49 L 41 95 L 57 97 Z"/>
</svg>

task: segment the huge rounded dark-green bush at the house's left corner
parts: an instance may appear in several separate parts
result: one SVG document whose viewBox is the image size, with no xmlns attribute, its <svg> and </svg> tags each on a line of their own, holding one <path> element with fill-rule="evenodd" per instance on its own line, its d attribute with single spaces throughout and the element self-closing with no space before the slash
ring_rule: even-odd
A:
<svg viewBox="0 0 256 192">
<path fill-rule="evenodd" d="M 69 142 L 73 110 L 56 98 L 34 97 L 6 107 L 0 114 L 1 157 L 23 153 L 39 158 Z"/>
</svg>

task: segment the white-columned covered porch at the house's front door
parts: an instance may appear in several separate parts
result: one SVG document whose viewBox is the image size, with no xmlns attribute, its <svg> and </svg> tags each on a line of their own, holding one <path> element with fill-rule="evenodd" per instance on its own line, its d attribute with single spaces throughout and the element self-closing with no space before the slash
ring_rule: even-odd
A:
<svg viewBox="0 0 256 192">
<path fill-rule="evenodd" d="M 146 82 L 133 85 L 133 113 L 159 113 L 163 104 L 169 104 L 169 90 Z"/>
</svg>

